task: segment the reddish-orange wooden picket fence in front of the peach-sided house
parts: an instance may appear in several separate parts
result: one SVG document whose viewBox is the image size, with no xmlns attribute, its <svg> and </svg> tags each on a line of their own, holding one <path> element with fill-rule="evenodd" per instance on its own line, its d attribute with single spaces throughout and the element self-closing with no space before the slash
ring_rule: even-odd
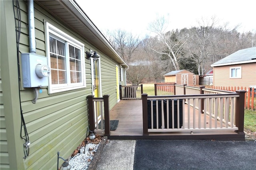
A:
<svg viewBox="0 0 256 170">
<path fill-rule="evenodd" d="M 193 87 L 200 87 L 199 85 L 188 85 Z M 256 88 L 252 87 L 239 87 L 239 86 L 203 86 L 208 89 L 229 91 L 235 92 L 236 90 L 246 90 L 246 94 L 244 96 L 244 109 L 252 109 L 256 110 Z"/>
</svg>

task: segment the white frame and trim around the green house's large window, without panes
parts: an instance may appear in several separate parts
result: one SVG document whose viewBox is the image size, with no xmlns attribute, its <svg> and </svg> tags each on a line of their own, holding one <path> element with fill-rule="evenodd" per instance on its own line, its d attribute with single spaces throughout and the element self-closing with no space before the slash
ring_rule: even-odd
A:
<svg viewBox="0 0 256 170">
<path fill-rule="evenodd" d="M 70 44 L 73 45 L 74 47 L 78 48 L 81 50 L 81 72 L 82 72 L 82 82 L 80 83 L 72 83 L 72 84 L 52 84 L 52 78 L 51 76 L 48 77 L 49 79 L 49 86 L 48 86 L 48 93 L 57 93 L 57 92 L 64 92 L 68 90 L 74 90 L 78 88 L 85 88 L 86 87 L 86 77 L 85 77 L 85 59 L 84 59 L 84 44 L 81 43 L 80 41 L 74 39 L 70 35 L 64 33 L 60 29 L 54 27 L 48 22 L 45 22 L 45 30 L 46 30 L 46 56 L 48 58 L 48 65 L 50 66 L 50 42 L 49 42 L 49 36 L 50 34 L 54 35 L 55 37 L 58 37 L 60 39 L 63 39 L 66 41 L 66 45 Z M 53 36 L 53 37 L 54 37 Z M 67 48 L 66 48 L 67 50 Z M 69 68 L 67 67 L 67 72 Z M 69 72 L 68 72 L 69 74 Z M 69 77 L 69 75 L 67 76 Z"/>
</svg>

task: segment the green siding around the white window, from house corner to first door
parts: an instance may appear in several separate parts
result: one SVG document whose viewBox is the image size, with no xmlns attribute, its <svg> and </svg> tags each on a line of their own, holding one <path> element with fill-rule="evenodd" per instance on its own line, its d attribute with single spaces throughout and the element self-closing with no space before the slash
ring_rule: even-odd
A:
<svg viewBox="0 0 256 170">
<path fill-rule="evenodd" d="M 76 33 L 64 25 L 57 24 L 58 21 L 40 7 L 35 5 L 35 8 L 37 54 L 46 54 L 44 21 L 54 24 L 74 39 L 84 43 L 86 47 L 85 40 L 77 37 Z M 22 41 L 22 45 L 28 45 L 27 41 Z M 90 47 L 87 46 L 86 48 Z M 87 50 L 85 49 L 85 51 Z M 30 156 L 24 161 L 26 169 L 51 169 L 55 167 L 58 151 L 62 157 L 68 158 L 86 137 L 88 127 L 86 97 L 92 94 L 92 86 L 88 60 L 86 60 L 85 66 L 86 88 L 50 95 L 48 89 L 43 88 L 42 93 L 38 95 L 36 104 L 31 102 L 34 99 L 34 90 L 22 90 L 22 110 L 31 142 Z"/>
</svg>

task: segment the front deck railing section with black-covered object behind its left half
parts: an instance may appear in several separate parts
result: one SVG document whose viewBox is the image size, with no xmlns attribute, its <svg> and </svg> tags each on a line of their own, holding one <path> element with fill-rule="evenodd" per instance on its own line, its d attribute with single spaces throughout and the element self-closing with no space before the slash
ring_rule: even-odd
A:
<svg viewBox="0 0 256 170">
<path fill-rule="evenodd" d="M 236 93 L 176 96 L 142 94 L 143 135 L 149 132 L 224 130 L 244 133 L 245 92 L 238 90 Z M 200 112 L 201 107 L 203 114 Z M 192 121 L 190 113 L 193 113 Z"/>
</svg>

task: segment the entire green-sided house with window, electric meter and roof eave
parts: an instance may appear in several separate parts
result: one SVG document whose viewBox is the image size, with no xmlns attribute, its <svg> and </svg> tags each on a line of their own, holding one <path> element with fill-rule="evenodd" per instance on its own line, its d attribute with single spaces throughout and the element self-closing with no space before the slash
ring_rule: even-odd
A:
<svg viewBox="0 0 256 170">
<path fill-rule="evenodd" d="M 128 65 L 85 12 L 74 0 L 0 1 L 1 170 L 55 169 L 86 137 L 86 97 L 120 100 Z"/>
</svg>

